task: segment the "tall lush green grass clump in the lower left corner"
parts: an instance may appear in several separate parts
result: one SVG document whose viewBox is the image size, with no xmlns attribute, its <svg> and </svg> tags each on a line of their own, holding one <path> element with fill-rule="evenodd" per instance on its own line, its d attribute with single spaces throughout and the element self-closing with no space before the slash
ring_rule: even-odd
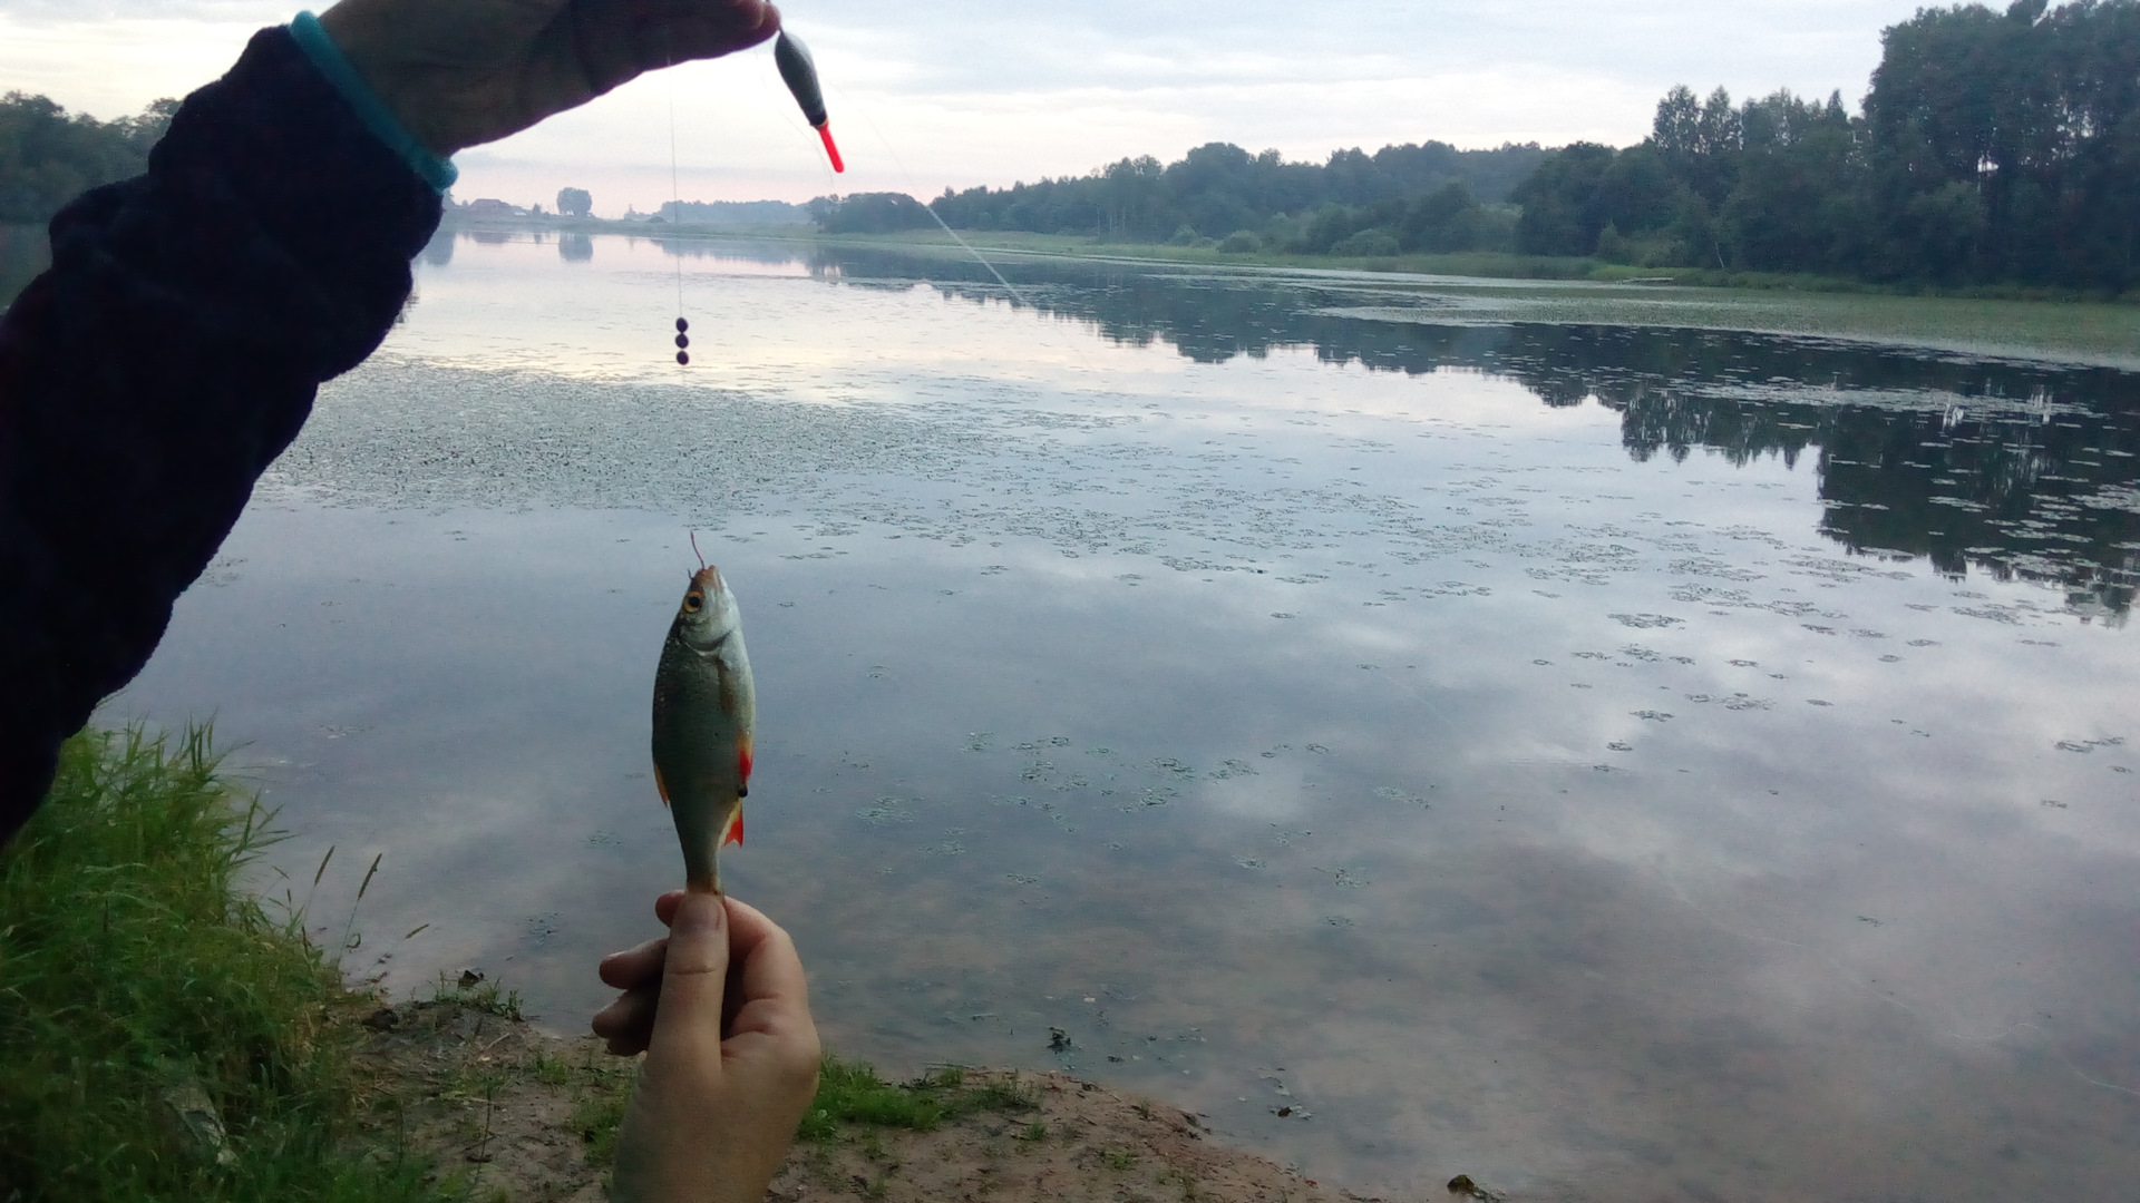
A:
<svg viewBox="0 0 2140 1203">
<path fill-rule="evenodd" d="M 218 781 L 208 732 L 68 741 L 0 848 L 0 1201 L 460 1197 L 357 1145 L 351 995 L 302 916 L 240 884 L 270 818 Z"/>
</svg>

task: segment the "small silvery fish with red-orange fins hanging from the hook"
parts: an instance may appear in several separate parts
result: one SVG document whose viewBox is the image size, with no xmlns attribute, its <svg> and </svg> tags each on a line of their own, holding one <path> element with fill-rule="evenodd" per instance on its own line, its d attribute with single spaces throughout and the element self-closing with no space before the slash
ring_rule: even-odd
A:
<svg viewBox="0 0 2140 1203">
<path fill-rule="evenodd" d="M 698 550 L 698 539 L 691 548 Z M 717 895 L 721 848 L 743 843 L 758 696 L 736 595 L 704 557 L 698 563 L 661 642 L 653 751 L 655 788 L 683 841 L 685 886 Z"/>
</svg>

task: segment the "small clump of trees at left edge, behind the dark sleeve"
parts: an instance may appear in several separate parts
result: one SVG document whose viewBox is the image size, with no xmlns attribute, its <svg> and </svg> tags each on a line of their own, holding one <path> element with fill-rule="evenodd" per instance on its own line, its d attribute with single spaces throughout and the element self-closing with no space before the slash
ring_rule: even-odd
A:
<svg viewBox="0 0 2140 1203">
<path fill-rule="evenodd" d="M 156 101 L 137 118 L 98 122 L 45 96 L 0 96 L 0 223 L 41 223 L 81 193 L 148 169 L 178 101 Z"/>
</svg>

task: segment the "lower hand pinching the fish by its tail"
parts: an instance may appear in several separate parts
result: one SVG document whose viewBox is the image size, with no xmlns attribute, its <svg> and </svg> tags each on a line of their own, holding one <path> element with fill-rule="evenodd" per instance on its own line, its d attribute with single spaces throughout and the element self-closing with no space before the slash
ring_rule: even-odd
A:
<svg viewBox="0 0 2140 1203">
<path fill-rule="evenodd" d="M 646 1051 L 616 1132 L 616 1199 L 758 1203 L 817 1090 L 817 1027 L 794 942 L 723 895 L 655 899 L 670 927 L 601 959 L 623 998 L 595 1015 L 612 1053 Z"/>
</svg>

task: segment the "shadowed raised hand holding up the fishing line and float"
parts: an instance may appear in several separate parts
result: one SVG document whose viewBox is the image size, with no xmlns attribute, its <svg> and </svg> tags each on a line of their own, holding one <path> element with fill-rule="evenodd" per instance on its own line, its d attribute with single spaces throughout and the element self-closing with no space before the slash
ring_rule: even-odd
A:
<svg viewBox="0 0 2140 1203">
<path fill-rule="evenodd" d="M 766 0 L 342 0 L 319 19 L 439 156 L 781 28 Z"/>
</svg>

